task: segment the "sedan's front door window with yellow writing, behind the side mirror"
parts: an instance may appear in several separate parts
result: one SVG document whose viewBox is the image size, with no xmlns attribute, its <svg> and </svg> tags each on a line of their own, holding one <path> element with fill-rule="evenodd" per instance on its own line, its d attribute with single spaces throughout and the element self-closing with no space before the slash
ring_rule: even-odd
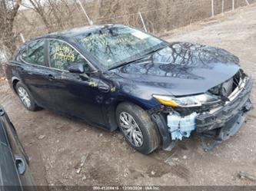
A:
<svg viewBox="0 0 256 191">
<path fill-rule="evenodd" d="M 50 40 L 49 50 L 49 61 L 52 68 L 68 71 L 68 67 L 72 64 L 83 64 L 85 71 L 91 70 L 81 54 L 63 41 Z"/>
</svg>

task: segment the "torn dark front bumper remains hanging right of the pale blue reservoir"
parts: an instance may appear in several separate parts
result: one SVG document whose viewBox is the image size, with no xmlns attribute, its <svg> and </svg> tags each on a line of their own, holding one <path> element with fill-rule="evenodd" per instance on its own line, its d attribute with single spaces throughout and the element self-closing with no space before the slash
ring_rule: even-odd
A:
<svg viewBox="0 0 256 191">
<path fill-rule="evenodd" d="M 210 151 L 219 143 L 228 140 L 242 127 L 245 113 L 251 109 L 250 94 L 253 86 L 251 77 L 244 89 L 231 103 L 213 114 L 201 114 L 197 117 L 197 133 L 201 134 L 204 151 Z"/>
</svg>

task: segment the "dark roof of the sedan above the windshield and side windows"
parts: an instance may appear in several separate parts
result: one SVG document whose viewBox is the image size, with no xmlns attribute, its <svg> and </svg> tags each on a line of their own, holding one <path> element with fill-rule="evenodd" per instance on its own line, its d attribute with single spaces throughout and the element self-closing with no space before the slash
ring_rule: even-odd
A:
<svg viewBox="0 0 256 191">
<path fill-rule="evenodd" d="M 65 31 L 57 31 L 57 32 L 52 32 L 47 35 L 42 35 L 37 38 L 33 38 L 32 40 L 36 40 L 39 38 L 72 38 L 77 35 L 81 35 L 84 33 L 88 32 L 95 32 L 98 31 L 101 28 L 114 28 L 114 27 L 124 27 L 125 25 L 119 25 L 119 24 L 105 24 L 105 25 L 89 25 L 89 26 L 84 26 L 80 28 L 71 28 Z"/>
</svg>

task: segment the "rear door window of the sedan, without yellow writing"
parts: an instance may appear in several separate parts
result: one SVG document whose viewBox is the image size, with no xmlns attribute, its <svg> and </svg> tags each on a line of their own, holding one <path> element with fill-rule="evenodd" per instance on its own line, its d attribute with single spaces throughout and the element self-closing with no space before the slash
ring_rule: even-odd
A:
<svg viewBox="0 0 256 191">
<path fill-rule="evenodd" d="M 32 41 L 22 52 L 23 61 L 29 64 L 45 65 L 44 40 Z"/>
</svg>

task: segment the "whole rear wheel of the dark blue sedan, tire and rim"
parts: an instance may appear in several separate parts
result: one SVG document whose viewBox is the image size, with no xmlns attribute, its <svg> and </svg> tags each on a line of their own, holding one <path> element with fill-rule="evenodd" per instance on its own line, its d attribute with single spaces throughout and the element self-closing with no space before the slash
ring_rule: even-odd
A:
<svg viewBox="0 0 256 191">
<path fill-rule="evenodd" d="M 27 110 L 35 111 L 38 109 L 35 101 L 33 100 L 31 94 L 28 91 L 28 88 L 25 87 L 22 82 L 18 82 L 15 86 L 15 91 L 18 94 L 19 99 L 22 101 L 22 104 Z"/>
</svg>

